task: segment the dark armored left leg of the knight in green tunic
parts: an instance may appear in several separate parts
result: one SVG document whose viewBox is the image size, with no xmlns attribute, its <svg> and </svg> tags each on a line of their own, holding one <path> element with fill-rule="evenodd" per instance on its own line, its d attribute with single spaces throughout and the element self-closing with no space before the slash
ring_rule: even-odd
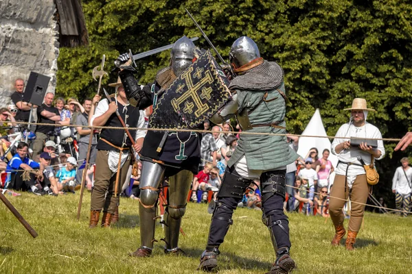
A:
<svg viewBox="0 0 412 274">
<path fill-rule="evenodd" d="M 229 230 L 229 225 L 233 224 L 231 219 L 233 210 L 236 210 L 238 203 L 242 201 L 244 191 L 253 180 L 244 179 L 233 169 L 227 168 L 223 177 L 222 186 L 218 192 L 216 208 L 211 216 L 209 237 L 207 238 L 208 251 L 219 247 Z"/>
</svg>

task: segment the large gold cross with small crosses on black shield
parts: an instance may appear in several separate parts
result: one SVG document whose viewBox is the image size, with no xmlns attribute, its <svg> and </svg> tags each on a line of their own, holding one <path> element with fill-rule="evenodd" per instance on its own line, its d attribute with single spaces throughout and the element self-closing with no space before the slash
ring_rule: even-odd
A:
<svg viewBox="0 0 412 274">
<path fill-rule="evenodd" d="M 203 73 L 203 69 L 198 69 L 199 68 L 196 68 L 196 73 L 194 73 L 194 77 L 196 78 L 201 77 L 201 73 Z M 202 79 L 200 79 L 196 83 L 196 85 L 194 85 L 191 77 L 192 72 L 193 66 L 191 66 L 189 69 L 187 69 L 185 73 L 183 73 L 182 79 L 185 80 L 187 91 L 184 92 L 183 95 L 181 95 L 181 97 L 173 98 L 171 103 L 174 108 L 174 111 L 179 112 L 179 110 L 181 109 L 180 105 L 184 102 L 185 108 L 183 108 L 183 112 L 187 114 L 192 114 L 193 110 L 195 109 L 196 111 L 194 112 L 194 114 L 196 118 L 198 118 L 203 113 L 207 112 L 207 110 L 209 110 L 209 105 L 203 104 L 201 99 L 210 99 L 212 89 L 210 87 L 207 87 L 206 85 L 212 84 L 214 79 L 211 75 L 211 71 L 206 71 L 204 73 L 205 76 Z M 199 91 L 201 91 L 201 97 L 199 97 L 198 95 Z M 192 98 L 193 103 L 187 101 L 190 98 Z M 196 105 L 196 108 L 194 108 L 194 105 Z"/>
</svg>

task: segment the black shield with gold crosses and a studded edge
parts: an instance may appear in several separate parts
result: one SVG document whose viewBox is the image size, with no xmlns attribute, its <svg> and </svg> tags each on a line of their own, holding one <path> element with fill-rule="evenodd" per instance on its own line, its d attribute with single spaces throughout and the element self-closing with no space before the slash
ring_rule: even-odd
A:
<svg viewBox="0 0 412 274">
<path fill-rule="evenodd" d="M 163 92 L 150 127 L 185 129 L 201 125 L 229 99 L 229 79 L 206 51 Z"/>
</svg>

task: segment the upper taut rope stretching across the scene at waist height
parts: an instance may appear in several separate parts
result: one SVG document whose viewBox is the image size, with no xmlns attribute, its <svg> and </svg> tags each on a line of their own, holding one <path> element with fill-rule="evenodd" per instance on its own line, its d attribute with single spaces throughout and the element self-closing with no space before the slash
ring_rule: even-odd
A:
<svg viewBox="0 0 412 274">
<path fill-rule="evenodd" d="M 53 127 L 62 127 L 62 125 L 49 124 L 49 123 L 27 123 L 27 122 L 15 122 L 19 125 L 46 125 Z M 88 127 L 90 125 L 66 125 L 66 127 Z M 129 130 L 144 130 L 144 131 L 155 131 L 155 132 L 199 132 L 199 133 L 225 133 L 225 134 L 244 134 L 244 135 L 272 135 L 272 136 L 297 136 L 297 137 L 310 137 L 310 138 L 328 138 L 328 139 L 347 139 L 347 137 L 336 137 L 336 136 L 318 136 L 318 135 L 301 135 L 301 134 L 277 134 L 277 133 L 264 133 L 264 132 L 221 132 L 213 130 L 204 130 L 204 129 L 176 129 L 176 128 L 156 128 L 156 127 L 106 127 L 106 126 L 97 126 L 93 125 L 93 129 L 129 129 Z M 362 139 L 362 140 L 382 140 L 387 142 L 399 142 L 400 138 L 362 138 L 362 137 L 352 137 L 352 139 Z"/>
</svg>

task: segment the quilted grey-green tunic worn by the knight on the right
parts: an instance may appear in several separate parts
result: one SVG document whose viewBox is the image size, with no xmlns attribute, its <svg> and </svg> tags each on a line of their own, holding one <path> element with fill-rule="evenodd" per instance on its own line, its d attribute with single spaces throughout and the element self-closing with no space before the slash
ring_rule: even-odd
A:
<svg viewBox="0 0 412 274">
<path fill-rule="evenodd" d="M 278 89 L 286 94 L 283 82 Z M 266 101 L 268 102 L 262 101 L 266 92 L 264 90 L 236 90 L 236 92 L 238 92 L 238 113 L 244 108 L 247 108 L 249 111 L 255 108 L 255 110 L 249 114 L 249 120 L 252 125 L 282 121 L 282 123 L 279 123 L 279 126 L 286 126 L 284 122 L 286 114 L 285 99 L 276 88 L 268 90 L 268 96 L 266 97 Z M 270 101 L 273 98 L 275 99 Z M 247 132 L 286 134 L 286 129 L 264 126 L 254 127 Z M 281 168 L 294 162 L 299 157 L 293 149 L 290 149 L 286 142 L 286 136 L 252 134 L 240 134 L 238 147 L 236 147 L 227 165 L 232 166 L 238 162 L 243 155 L 246 156 L 249 169 L 260 171 L 270 171 Z"/>
</svg>

